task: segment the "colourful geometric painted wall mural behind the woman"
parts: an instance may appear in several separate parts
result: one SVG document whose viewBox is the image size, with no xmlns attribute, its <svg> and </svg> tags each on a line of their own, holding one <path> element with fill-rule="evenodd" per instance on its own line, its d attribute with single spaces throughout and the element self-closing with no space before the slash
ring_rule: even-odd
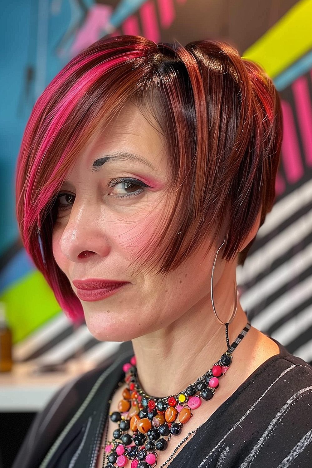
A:
<svg viewBox="0 0 312 468">
<path fill-rule="evenodd" d="M 30 262 L 14 216 L 14 170 L 32 106 L 76 53 L 104 35 L 155 42 L 221 38 L 265 67 L 282 97 L 284 139 L 276 205 L 238 283 L 252 324 L 312 361 L 312 0 L 15 0 L 3 5 L 1 40 L 0 301 L 15 358 L 100 363 L 116 344 L 74 326 Z M 82 351 L 81 351 L 82 350 Z"/>
</svg>

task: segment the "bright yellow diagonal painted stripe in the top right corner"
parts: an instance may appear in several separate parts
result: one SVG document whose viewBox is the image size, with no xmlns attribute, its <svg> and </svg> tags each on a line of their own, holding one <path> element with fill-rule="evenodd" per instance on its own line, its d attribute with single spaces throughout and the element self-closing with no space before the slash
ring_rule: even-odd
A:
<svg viewBox="0 0 312 468">
<path fill-rule="evenodd" d="M 276 77 L 312 49 L 312 0 L 300 0 L 251 47 L 245 59 Z"/>
</svg>

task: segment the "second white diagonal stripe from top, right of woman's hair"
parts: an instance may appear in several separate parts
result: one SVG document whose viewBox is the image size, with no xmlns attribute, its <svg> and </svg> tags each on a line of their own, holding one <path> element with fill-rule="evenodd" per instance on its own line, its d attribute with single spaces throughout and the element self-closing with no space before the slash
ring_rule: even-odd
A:
<svg viewBox="0 0 312 468">
<path fill-rule="evenodd" d="M 239 265 L 236 269 L 237 283 L 242 285 L 254 279 L 262 271 L 267 270 L 277 258 L 311 233 L 312 210 L 277 234 L 263 247 L 247 256 L 244 266 Z"/>
</svg>

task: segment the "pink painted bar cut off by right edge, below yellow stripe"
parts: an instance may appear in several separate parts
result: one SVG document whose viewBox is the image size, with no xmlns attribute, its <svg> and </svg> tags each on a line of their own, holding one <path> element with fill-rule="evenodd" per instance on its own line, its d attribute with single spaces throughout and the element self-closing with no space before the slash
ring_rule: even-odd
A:
<svg viewBox="0 0 312 468">
<path fill-rule="evenodd" d="M 312 105 L 305 76 L 294 81 L 291 88 L 295 98 L 302 144 L 305 149 L 305 160 L 309 166 L 312 166 Z"/>
</svg>

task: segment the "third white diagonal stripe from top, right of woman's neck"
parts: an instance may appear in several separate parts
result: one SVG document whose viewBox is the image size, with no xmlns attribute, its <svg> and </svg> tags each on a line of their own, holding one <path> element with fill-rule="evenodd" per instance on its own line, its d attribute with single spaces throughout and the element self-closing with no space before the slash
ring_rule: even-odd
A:
<svg viewBox="0 0 312 468">
<path fill-rule="evenodd" d="M 242 307 L 245 310 L 253 309 L 261 304 L 263 298 L 267 298 L 285 283 L 299 276 L 310 265 L 312 265 L 312 243 L 244 292 L 240 297 Z"/>
</svg>

